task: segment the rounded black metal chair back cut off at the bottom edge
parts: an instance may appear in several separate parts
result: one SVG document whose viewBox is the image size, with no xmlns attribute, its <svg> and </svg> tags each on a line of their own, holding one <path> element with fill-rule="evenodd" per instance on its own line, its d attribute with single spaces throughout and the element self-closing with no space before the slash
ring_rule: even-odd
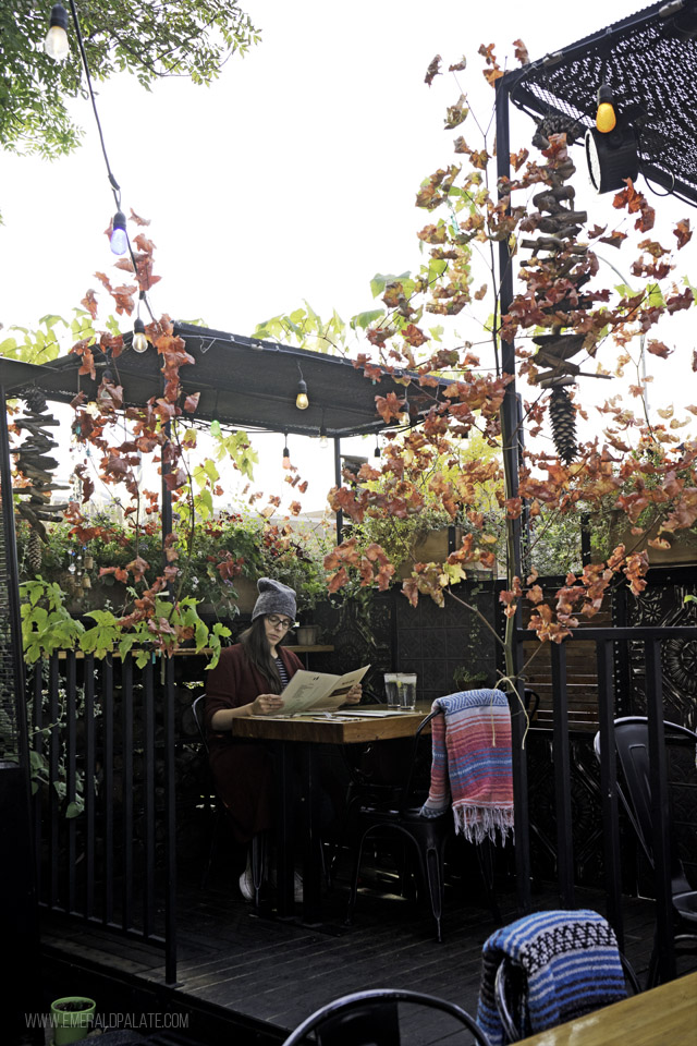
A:
<svg viewBox="0 0 697 1046">
<path fill-rule="evenodd" d="M 396 988 L 374 988 L 344 995 L 321 1007 L 292 1032 L 283 1046 L 299 1046 L 315 1033 L 310 1042 L 317 1046 L 400 1046 L 399 1004 L 426 1007 L 448 1013 L 467 1030 L 477 1046 L 490 1046 L 489 1039 L 466 1010 L 420 992 Z M 406 1022 L 405 1022 L 406 1023 Z M 463 1032 L 463 1034 L 465 1034 Z M 451 1034 L 448 1042 L 460 1042 L 462 1036 Z M 472 1042 L 469 1039 L 469 1042 Z"/>
</svg>

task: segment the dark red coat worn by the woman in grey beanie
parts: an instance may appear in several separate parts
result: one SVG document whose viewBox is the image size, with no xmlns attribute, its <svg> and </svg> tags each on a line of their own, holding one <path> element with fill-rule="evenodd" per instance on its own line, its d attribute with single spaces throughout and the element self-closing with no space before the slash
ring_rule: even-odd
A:
<svg viewBox="0 0 697 1046">
<path fill-rule="evenodd" d="M 297 654 L 278 647 L 289 679 L 302 668 Z M 216 668 L 208 672 L 204 721 L 210 768 L 225 804 L 237 842 L 246 843 L 273 823 L 273 762 L 262 743 L 233 738 L 229 730 L 212 730 L 210 720 L 221 708 L 248 705 L 269 693 L 269 681 L 244 656 L 241 644 L 227 647 Z"/>
</svg>

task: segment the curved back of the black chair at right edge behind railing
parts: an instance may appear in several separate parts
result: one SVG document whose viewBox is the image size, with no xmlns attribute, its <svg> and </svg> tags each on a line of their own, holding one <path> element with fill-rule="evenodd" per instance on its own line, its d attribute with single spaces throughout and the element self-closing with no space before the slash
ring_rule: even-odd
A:
<svg viewBox="0 0 697 1046">
<path fill-rule="evenodd" d="M 670 746 L 689 745 L 690 749 L 694 749 L 697 744 L 697 733 L 688 730 L 687 727 L 665 721 L 663 728 L 667 744 Z M 648 719 L 645 716 L 626 716 L 622 719 L 615 719 L 614 743 L 627 792 L 625 795 L 624 791 L 620 789 L 620 800 L 627 812 L 647 861 L 653 867 Z M 600 758 L 599 733 L 596 734 L 594 747 L 596 756 Z M 690 890 L 690 885 L 678 856 L 672 823 L 670 846 L 672 892 L 687 892 Z"/>
</svg>

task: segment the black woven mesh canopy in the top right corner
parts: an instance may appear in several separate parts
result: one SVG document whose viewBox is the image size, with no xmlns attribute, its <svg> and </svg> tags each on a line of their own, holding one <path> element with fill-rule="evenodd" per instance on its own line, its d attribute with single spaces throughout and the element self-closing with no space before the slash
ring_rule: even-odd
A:
<svg viewBox="0 0 697 1046">
<path fill-rule="evenodd" d="M 603 83 L 635 130 L 645 178 L 697 205 L 697 0 L 653 3 L 504 80 L 516 106 L 582 132 Z"/>
</svg>

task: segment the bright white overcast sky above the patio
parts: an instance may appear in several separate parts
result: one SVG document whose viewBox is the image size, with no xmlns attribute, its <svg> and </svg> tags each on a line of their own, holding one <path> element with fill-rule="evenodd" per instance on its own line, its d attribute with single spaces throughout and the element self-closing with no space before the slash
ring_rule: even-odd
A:
<svg viewBox="0 0 697 1046">
<path fill-rule="evenodd" d="M 343 7 L 249 0 L 262 41 L 229 62 L 212 88 L 170 81 L 148 94 L 129 77 L 100 86 L 123 209 L 151 220 L 162 276 L 150 294 L 154 312 L 247 335 L 303 299 L 322 315 L 335 307 L 344 319 L 374 307 L 375 272 L 418 266 L 415 233 L 429 219 L 414 207 L 415 194 L 452 158 L 443 115 L 460 90 L 451 75 L 425 85 L 433 56 L 445 64 L 467 56 L 461 84 L 486 118 L 493 92 L 480 77 L 480 44 L 494 42 L 501 64 L 508 56 L 513 65 L 518 37 L 536 59 L 641 7 L 639 0 L 568 8 L 549 0 L 354 0 Z M 113 198 L 91 110 L 80 100 L 74 112 L 85 138 L 73 156 L 48 163 L 0 154 L 5 329 L 35 326 L 47 313 L 69 316 L 88 287 L 98 290 L 93 273 L 109 272 L 113 262 L 102 235 Z M 529 145 L 529 121 L 516 120 L 517 127 L 513 144 Z M 468 136 L 466 125 L 463 131 Z M 589 208 L 591 223 L 602 222 L 608 200 L 590 187 L 580 192 L 579 150 L 576 162 L 577 202 Z M 671 221 L 690 210 L 673 199 L 657 203 Z M 607 250 L 620 269 L 628 266 L 631 259 Z M 684 271 L 690 250 L 682 252 Z M 106 314 L 110 300 L 100 300 Z M 684 348 L 692 355 L 692 343 Z M 276 458 L 279 440 L 262 452 Z M 371 451 L 372 445 L 363 452 Z M 318 508 L 332 470 L 329 452 L 317 458 L 316 442 L 311 453 L 307 507 Z M 265 489 L 274 475 L 267 481 Z"/>
</svg>

